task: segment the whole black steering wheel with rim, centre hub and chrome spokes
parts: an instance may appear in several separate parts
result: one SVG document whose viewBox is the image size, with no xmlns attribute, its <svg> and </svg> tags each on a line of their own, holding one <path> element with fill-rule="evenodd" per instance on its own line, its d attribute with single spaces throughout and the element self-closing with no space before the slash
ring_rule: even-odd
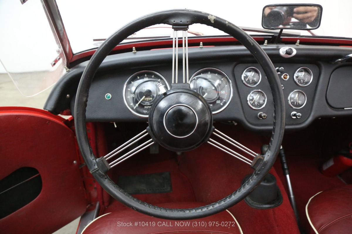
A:
<svg viewBox="0 0 352 234">
<path fill-rule="evenodd" d="M 240 41 L 247 49 L 249 49 L 254 58 L 262 66 L 269 81 L 274 99 L 273 130 L 266 153 L 264 155 L 254 153 L 250 149 L 240 145 L 230 137 L 214 129 L 212 113 L 208 103 L 201 95 L 191 91 L 189 86 L 184 83 L 183 85 L 173 84 L 170 90 L 159 96 L 150 110 L 149 127 L 145 131 L 115 149 L 113 152 L 108 154 L 109 156 L 107 155 L 107 157 L 96 158 L 88 141 L 85 120 L 90 84 L 101 62 L 122 40 L 143 28 L 156 24 L 168 24 L 171 25 L 174 30 L 187 30 L 189 25 L 196 23 L 205 24 L 230 34 L 235 39 Z M 97 49 L 90 59 L 82 74 L 77 90 L 74 114 L 77 141 L 83 159 L 96 181 L 98 181 L 98 183 L 111 196 L 113 196 L 113 198 L 119 200 L 130 208 L 150 216 L 162 219 L 186 220 L 203 218 L 205 216 L 221 212 L 244 199 L 259 185 L 265 175 L 269 172 L 270 168 L 273 166 L 276 155 L 279 152 L 285 125 L 284 110 L 282 87 L 275 68 L 272 65 L 268 55 L 266 55 L 264 50 L 255 40 L 252 39 L 251 36 L 239 27 L 217 16 L 189 9 L 176 9 L 160 11 L 142 16 L 126 24 L 103 42 L 103 44 Z M 178 115 L 181 115 L 181 119 L 183 120 L 189 120 L 187 122 L 187 127 L 182 128 L 182 124 L 181 128 L 179 127 L 175 129 L 170 127 L 174 124 L 180 124 L 180 118 L 174 118 L 174 116 Z M 247 163 L 251 165 L 254 171 L 250 178 L 232 194 L 207 206 L 190 209 L 170 209 L 153 206 L 127 194 L 107 175 L 107 171 L 111 168 L 111 166 L 113 166 L 112 163 L 108 163 L 107 161 L 109 157 L 120 152 L 122 149 L 127 148 L 129 145 L 132 145 L 132 143 L 146 135 L 151 136 L 152 139 L 140 145 L 139 148 L 136 148 L 137 150 L 135 152 L 141 151 L 153 142 L 157 142 L 165 148 L 174 151 L 188 151 L 196 148 L 204 142 L 208 142 L 211 145 L 228 152 L 232 156 L 238 156 L 231 149 L 227 147 L 224 148 L 223 145 L 210 139 L 210 135 L 213 134 L 225 139 L 225 141 L 237 148 L 242 148 L 244 152 L 247 151 L 246 153 L 252 155 L 254 159 L 247 159 Z M 165 138 L 168 140 L 164 140 Z M 132 155 L 133 154 L 128 156 L 124 155 L 125 158 L 122 159 L 122 161 Z M 238 158 L 242 161 L 246 161 L 241 157 Z"/>
</svg>

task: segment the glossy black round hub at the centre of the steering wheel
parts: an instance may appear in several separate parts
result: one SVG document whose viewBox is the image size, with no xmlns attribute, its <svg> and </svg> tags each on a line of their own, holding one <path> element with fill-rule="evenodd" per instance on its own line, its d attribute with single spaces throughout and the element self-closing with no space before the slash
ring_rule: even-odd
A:
<svg viewBox="0 0 352 234">
<path fill-rule="evenodd" d="M 166 149 L 183 152 L 208 141 L 213 116 L 207 101 L 187 88 L 160 95 L 149 112 L 147 128 L 153 140 Z"/>
</svg>

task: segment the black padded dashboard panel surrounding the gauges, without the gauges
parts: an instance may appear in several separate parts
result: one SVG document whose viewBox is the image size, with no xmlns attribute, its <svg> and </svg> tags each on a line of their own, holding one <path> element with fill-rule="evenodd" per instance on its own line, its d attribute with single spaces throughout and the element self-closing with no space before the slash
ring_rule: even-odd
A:
<svg viewBox="0 0 352 234">
<path fill-rule="evenodd" d="M 312 83 L 307 87 L 303 87 L 310 89 L 309 92 L 312 92 L 311 94 L 308 94 L 308 92 L 304 91 L 306 92 L 308 98 L 307 104 L 305 106 L 305 108 L 307 108 L 307 115 L 303 115 L 302 113 L 303 116 L 301 119 L 291 120 L 290 115 L 288 114 L 290 114 L 292 110 L 288 111 L 288 108 L 286 108 L 288 116 L 287 118 L 289 118 L 290 121 L 297 122 L 288 121 L 285 129 L 299 130 L 309 126 L 310 123 L 319 118 L 334 118 L 338 116 L 352 115 L 352 110 L 334 109 L 329 106 L 326 101 L 326 92 L 330 75 L 336 68 L 346 66 L 344 64 L 334 64 L 331 63 L 331 61 L 339 59 L 346 54 L 351 54 L 352 49 L 350 47 L 337 46 L 291 45 L 297 50 L 297 54 L 292 58 L 282 58 L 279 55 L 279 49 L 283 46 L 285 45 L 268 45 L 262 46 L 262 48 L 268 54 L 275 66 L 289 65 L 287 68 L 288 70 L 285 70 L 285 72 L 289 71 L 290 69 L 295 70 L 300 66 L 309 67 L 312 65 L 313 70 L 316 68 L 315 71 L 312 70 L 314 73 Z M 253 131 L 272 130 L 272 122 L 269 119 L 270 114 L 268 114 L 268 120 L 264 121 L 259 120 L 257 115 L 255 115 L 255 118 L 258 120 L 253 117 L 252 122 L 247 119 L 252 117 L 247 116 L 247 112 L 244 111 L 244 108 L 248 105 L 247 103 L 243 105 L 242 99 L 246 99 L 248 94 L 243 96 L 243 98 L 240 98 L 240 92 L 242 92 L 242 90 L 245 88 L 245 85 L 241 81 L 241 74 L 237 75 L 234 73 L 234 69 L 236 66 L 239 66 L 243 63 L 252 64 L 253 66 L 258 67 L 258 63 L 254 60 L 253 56 L 244 46 L 236 45 L 189 48 L 189 61 L 189 76 L 201 68 L 214 67 L 225 72 L 233 84 L 234 92 L 231 102 L 227 108 L 224 109 L 224 111 L 214 115 L 214 121 L 236 121 Z M 131 74 L 142 70 L 156 71 L 163 75 L 164 78 L 170 83 L 172 67 L 171 64 L 171 49 L 159 49 L 152 51 L 139 51 L 137 53 L 128 52 L 109 55 L 101 64 L 93 81 L 92 88 L 90 89 L 87 108 L 87 121 L 146 121 L 146 119 L 134 116 L 124 105 L 122 98 L 123 85 Z M 57 82 L 45 103 L 44 109 L 54 114 L 59 114 L 62 112 L 67 113 L 67 111 L 70 109 L 72 113 L 74 109 L 74 99 L 78 82 L 86 65 L 87 62 L 83 62 L 74 68 L 71 68 L 63 76 L 63 78 Z M 292 68 L 290 68 L 291 66 Z M 261 68 L 260 71 L 262 72 Z M 240 83 L 237 81 L 237 79 L 239 79 Z M 263 80 L 265 80 L 265 77 L 262 77 L 261 83 Z M 281 82 L 284 83 L 290 81 L 294 82 L 293 74 L 292 76 L 290 74 L 288 81 L 282 80 Z M 314 82 L 316 83 L 314 84 Z M 109 90 L 109 86 L 112 85 L 116 87 L 114 92 Z M 296 84 L 294 84 L 294 86 L 298 87 Z M 300 88 L 301 87 L 298 87 L 298 89 Z M 287 89 L 288 93 L 286 93 L 285 89 L 284 94 L 285 99 L 287 99 L 289 91 Z M 111 93 L 113 98 L 120 97 L 121 100 L 114 104 L 112 100 L 105 99 L 104 95 L 106 93 Z M 104 106 L 106 101 L 110 101 L 110 103 L 109 105 Z M 308 104 L 308 102 L 310 104 Z M 268 104 L 267 106 L 269 107 Z M 300 109 L 300 111 L 304 111 L 303 108 Z"/>
</svg>

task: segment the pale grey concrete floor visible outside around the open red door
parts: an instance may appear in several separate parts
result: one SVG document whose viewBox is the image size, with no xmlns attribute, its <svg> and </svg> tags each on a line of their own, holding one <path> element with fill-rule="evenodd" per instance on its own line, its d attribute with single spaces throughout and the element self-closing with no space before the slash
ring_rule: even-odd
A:
<svg viewBox="0 0 352 234">
<path fill-rule="evenodd" d="M 43 109 L 52 87 L 30 98 L 23 96 L 7 74 L 0 74 L 0 106 L 23 106 Z M 75 234 L 80 218 L 72 221 L 54 234 Z"/>
</svg>

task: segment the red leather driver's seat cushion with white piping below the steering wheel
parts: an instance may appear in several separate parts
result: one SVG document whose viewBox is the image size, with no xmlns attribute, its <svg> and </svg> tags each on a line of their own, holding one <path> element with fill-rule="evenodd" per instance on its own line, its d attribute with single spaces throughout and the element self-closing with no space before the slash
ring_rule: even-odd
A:
<svg viewBox="0 0 352 234">
<path fill-rule="evenodd" d="M 168 208 L 193 208 L 203 206 L 198 202 L 177 202 L 159 204 Z M 122 223 L 132 226 L 122 226 Z M 147 224 L 147 225 L 146 225 Z M 210 224 L 210 225 L 209 225 Z M 82 234 L 239 234 L 237 221 L 226 210 L 218 214 L 194 220 L 175 221 L 153 218 L 132 209 L 101 216 L 90 223 Z"/>
</svg>

